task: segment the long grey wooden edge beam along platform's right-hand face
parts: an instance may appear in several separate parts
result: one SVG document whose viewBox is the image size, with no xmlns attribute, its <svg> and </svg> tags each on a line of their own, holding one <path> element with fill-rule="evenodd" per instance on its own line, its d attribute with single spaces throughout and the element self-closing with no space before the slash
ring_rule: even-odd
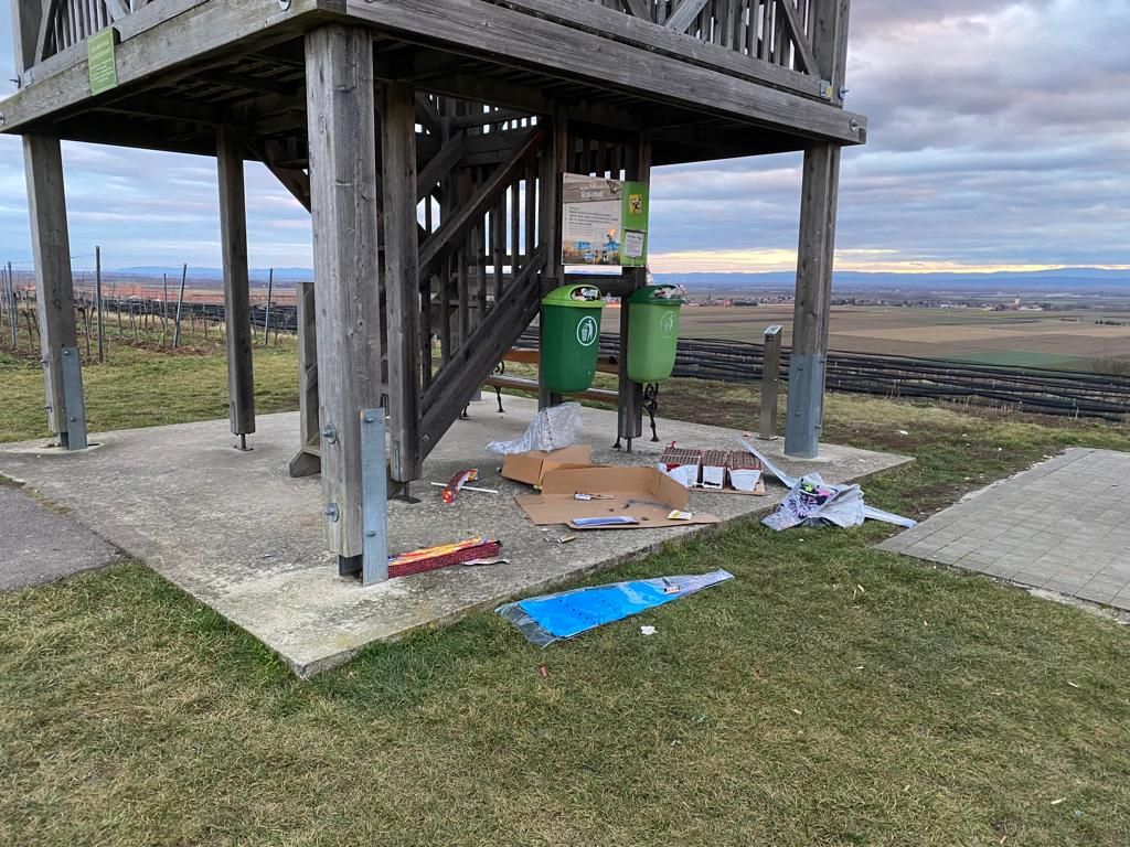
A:
<svg viewBox="0 0 1130 847">
<path fill-rule="evenodd" d="M 826 103 L 694 64 L 672 64 L 666 56 L 628 44 L 612 47 L 601 35 L 501 6 L 471 0 L 346 0 L 346 8 L 356 18 L 407 37 L 426 32 L 431 38 L 464 49 L 473 44 L 478 51 L 492 52 L 497 60 L 515 67 L 544 69 L 555 76 L 589 80 L 599 89 L 612 87 L 707 114 L 740 116 L 749 123 L 810 138 L 861 143 L 860 130 L 867 124 L 863 115 L 829 108 Z M 627 15 L 619 17 L 633 20 Z M 710 91 L 709 99 L 704 99 L 703 91 Z"/>
</svg>

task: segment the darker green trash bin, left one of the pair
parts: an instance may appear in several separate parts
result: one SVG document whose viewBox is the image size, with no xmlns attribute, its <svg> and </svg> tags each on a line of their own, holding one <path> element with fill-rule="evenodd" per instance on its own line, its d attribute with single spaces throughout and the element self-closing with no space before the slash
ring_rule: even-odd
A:
<svg viewBox="0 0 1130 847">
<path fill-rule="evenodd" d="M 584 391 L 600 353 L 600 289 L 563 286 L 541 300 L 541 370 L 556 394 Z"/>
</svg>

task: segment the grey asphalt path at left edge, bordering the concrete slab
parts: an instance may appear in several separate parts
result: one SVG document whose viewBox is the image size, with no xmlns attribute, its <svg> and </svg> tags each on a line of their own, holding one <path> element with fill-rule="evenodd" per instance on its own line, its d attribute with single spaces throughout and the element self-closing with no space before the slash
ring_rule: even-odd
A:
<svg viewBox="0 0 1130 847">
<path fill-rule="evenodd" d="M 118 550 L 89 530 L 0 484 L 0 591 L 54 582 L 118 558 Z"/>
</svg>

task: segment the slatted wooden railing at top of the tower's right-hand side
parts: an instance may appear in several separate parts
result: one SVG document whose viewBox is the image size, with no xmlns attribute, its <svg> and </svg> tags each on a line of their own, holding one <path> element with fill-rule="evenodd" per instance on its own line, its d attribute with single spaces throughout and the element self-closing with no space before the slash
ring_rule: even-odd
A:
<svg viewBox="0 0 1130 847">
<path fill-rule="evenodd" d="M 815 0 L 592 0 L 709 44 L 818 77 Z"/>
</svg>

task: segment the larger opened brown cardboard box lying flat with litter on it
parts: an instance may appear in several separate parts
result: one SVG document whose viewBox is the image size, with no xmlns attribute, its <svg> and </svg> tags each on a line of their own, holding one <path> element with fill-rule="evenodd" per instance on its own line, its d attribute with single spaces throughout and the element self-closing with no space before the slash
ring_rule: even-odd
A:
<svg viewBox="0 0 1130 847">
<path fill-rule="evenodd" d="M 574 495 L 611 495 L 610 500 L 577 500 Z M 549 471 L 540 495 L 520 495 L 518 505 L 538 526 L 568 524 L 574 530 L 647 530 L 687 524 L 718 524 L 714 515 L 695 514 L 671 521 L 672 509 L 685 512 L 687 489 L 654 468 L 576 468 Z M 576 526 L 579 517 L 634 517 L 640 523 L 620 526 Z"/>
</svg>

